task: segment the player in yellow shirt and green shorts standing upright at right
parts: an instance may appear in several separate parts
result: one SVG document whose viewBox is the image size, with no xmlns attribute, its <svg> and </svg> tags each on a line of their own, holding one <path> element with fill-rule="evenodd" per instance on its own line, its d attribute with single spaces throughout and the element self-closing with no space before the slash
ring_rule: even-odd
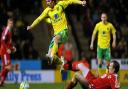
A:
<svg viewBox="0 0 128 89">
<path fill-rule="evenodd" d="M 97 44 L 98 73 L 99 75 L 101 75 L 103 57 L 106 60 L 107 66 L 109 65 L 111 59 L 111 52 L 110 52 L 111 33 L 113 37 L 112 47 L 115 48 L 116 46 L 116 29 L 110 22 L 107 21 L 106 13 L 101 14 L 101 21 L 97 23 L 94 28 L 91 44 L 90 44 L 90 49 L 92 50 L 97 32 L 98 32 L 98 44 Z"/>
</svg>

